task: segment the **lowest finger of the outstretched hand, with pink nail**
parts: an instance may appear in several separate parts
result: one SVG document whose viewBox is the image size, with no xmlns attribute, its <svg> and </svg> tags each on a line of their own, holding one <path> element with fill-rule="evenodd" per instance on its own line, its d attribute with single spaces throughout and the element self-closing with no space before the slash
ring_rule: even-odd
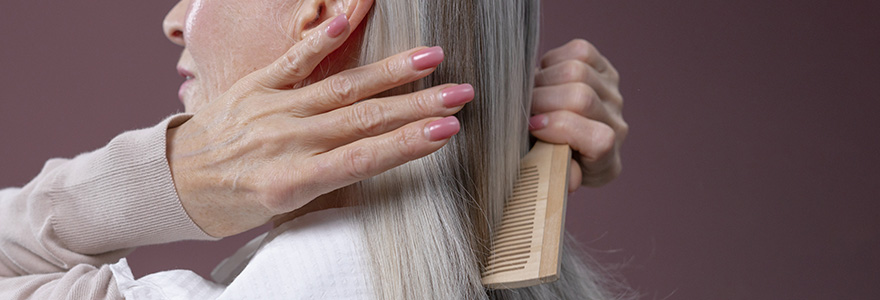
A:
<svg viewBox="0 0 880 300">
<path fill-rule="evenodd" d="M 331 191 L 370 178 L 439 150 L 458 133 L 455 117 L 421 120 L 395 131 L 336 148 L 315 157 L 316 184 Z"/>
</svg>

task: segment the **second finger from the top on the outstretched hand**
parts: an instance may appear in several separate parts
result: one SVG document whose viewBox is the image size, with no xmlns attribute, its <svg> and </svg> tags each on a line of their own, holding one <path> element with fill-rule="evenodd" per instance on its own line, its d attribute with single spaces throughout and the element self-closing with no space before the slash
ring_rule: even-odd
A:
<svg viewBox="0 0 880 300">
<path fill-rule="evenodd" d="M 428 76 L 443 58 L 442 48 L 421 47 L 367 66 L 342 71 L 300 89 L 309 96 L 294 99 L 294 106 L 305 116 L 347 106 Z"/>
</svg>

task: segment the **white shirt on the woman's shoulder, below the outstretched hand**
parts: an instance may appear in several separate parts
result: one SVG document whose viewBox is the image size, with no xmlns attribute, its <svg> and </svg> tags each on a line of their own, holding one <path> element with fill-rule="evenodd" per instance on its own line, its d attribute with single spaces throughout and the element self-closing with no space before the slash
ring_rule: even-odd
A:
<svg viewBox="0 0 880 300">
<path fill-rule="evenodd" d="M 367 299 L 367 253 L 352 208 L 327 209 L 294 219 L 257 237 L 211 276 L 189 270 L 135 280 L 125 259 L 111 267 L 129 300 Z"/>
</svg>

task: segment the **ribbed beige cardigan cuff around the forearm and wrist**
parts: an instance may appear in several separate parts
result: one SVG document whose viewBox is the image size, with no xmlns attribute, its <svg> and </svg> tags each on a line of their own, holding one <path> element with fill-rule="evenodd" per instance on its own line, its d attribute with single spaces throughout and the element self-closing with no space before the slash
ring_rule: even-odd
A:
<svg viewBox="0 0 880 300">
<path fill-rule="evenodd" d="M 169 123 L 124 133 L 53 172 L 46 198 L 58 237 L 78 253 L 212 239 L 189 218 L 177 197 L 166 156 Z"/>
</svg>

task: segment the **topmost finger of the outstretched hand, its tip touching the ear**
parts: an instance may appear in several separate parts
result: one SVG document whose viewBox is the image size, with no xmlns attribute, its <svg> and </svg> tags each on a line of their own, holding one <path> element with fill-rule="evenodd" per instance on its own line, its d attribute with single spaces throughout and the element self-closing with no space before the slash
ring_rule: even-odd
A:
<svg viewBox="0 0 880 300">
<path fill-rule="evenodd" d="M 282 89 L 300 82 L 351 34 L 351 24 L 345 15 L 325 22 L 320 28 L 323 29 L 314 30 L 294 44 L 281 58 L 255 72 L 253 80 L 272 89 Z"/>
</svg>

